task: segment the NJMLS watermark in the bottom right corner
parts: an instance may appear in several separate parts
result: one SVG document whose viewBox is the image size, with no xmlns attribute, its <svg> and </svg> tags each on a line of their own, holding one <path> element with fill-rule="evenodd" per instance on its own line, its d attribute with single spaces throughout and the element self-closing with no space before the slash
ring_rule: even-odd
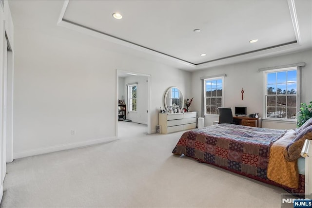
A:
<svg viewBox="0 0 312 208">
<path fill-rule="evenodd" d="M 281 208 L 312 208 L 312 195 L 282 193 Z"/>
</svg>

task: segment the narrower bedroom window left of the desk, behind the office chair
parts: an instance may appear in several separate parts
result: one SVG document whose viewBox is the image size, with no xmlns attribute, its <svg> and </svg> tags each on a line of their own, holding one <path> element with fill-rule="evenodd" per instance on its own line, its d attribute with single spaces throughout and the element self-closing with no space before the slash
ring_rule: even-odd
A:
<svg viewBox="0 0 312 208">
<path fill-rule="evenodd" d="M 204 112 L 219 114 L 218 107 L 223 106 L 223 77 L 204 79 Z"/>
</svg>

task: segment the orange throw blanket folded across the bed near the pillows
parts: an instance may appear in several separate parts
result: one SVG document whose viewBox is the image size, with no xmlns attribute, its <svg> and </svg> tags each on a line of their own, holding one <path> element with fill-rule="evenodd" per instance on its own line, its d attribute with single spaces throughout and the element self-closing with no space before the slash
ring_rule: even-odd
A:
<svg viewBox="0 0 312 208">
<path fill-rule="evenodd" d="M 299 185 L 299 172 L 297 160 L 288 162 L 284 157 L 284 150 L 292 141 L 295 131 L 289 130 L 279 140 L 275 141 L 270 149 L 268 164 L 268 178 L 278 184 L 297 189 Z"/>
</svg>

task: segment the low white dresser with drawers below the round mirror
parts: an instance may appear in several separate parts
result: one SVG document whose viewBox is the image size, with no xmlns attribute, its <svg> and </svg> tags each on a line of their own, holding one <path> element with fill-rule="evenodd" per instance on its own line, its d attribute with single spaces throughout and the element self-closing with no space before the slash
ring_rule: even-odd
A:
<svg viewBox="0 0 312 208">
<path fill-rule="evenodd" d="M 196 112 L 159 113 L 158 119 L 158 123 L 162 128 L 162 133 L 196 128 Z"/>
</svg>

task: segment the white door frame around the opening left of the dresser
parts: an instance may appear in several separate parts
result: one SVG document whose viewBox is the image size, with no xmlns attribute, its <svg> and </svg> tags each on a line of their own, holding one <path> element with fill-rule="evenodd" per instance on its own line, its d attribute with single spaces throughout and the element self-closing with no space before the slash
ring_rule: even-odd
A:
<svg viewBox="0 0 312 208">
<path fill-rule="evenodd" d="M 137 73 L 133 71 L 125 71 L 125 70 L 116 70 L 116 138 L 118 138 L 118 90 L 119 90 L 119 75 L 121 73 L 129 73 L 129 74 L 136 74 L 137 76 L 145 76 L 147 77 L 147 133 L 150 134 L 152 132 L 152 125 L 151 125 L 151 89 L 152 89 L 152 81 L 151 75 Z"/>
</svg>

